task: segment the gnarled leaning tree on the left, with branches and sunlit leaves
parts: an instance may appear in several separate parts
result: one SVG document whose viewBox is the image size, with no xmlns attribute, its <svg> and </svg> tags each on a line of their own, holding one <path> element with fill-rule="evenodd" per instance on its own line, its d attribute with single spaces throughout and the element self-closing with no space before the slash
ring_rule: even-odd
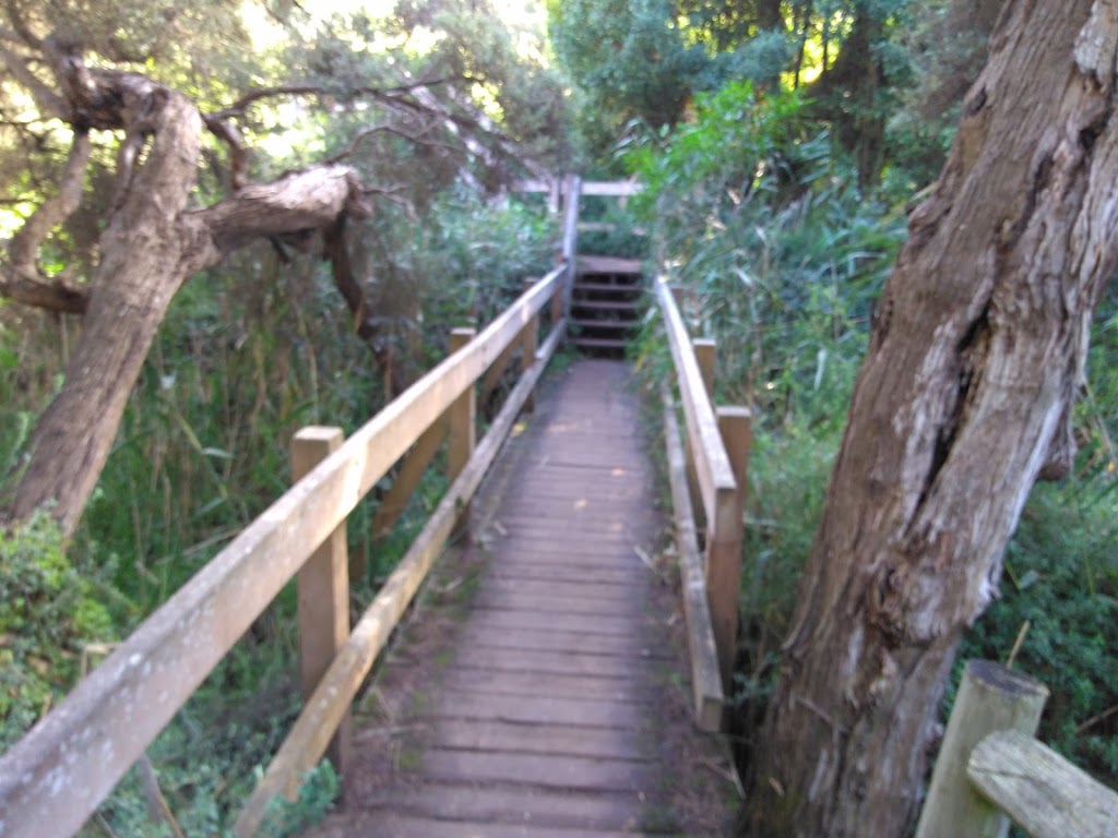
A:
<svg viewBox="0 0 1118 838">
<path fill-rule="evenodd" d="M 348 40 L 331 37 L 339 28 L 332 21 L 325 37 L 303 49 L 302 77 L 276 78 L 273 69 L 275 83 L 262 85 L 253 79 L 266 75 L 265 63 L 246 63 L 245 44 L 228 48 L 239 27 L 239 7 L 228 0 L 190 8 L 170 0 L 138 0 L 127 9 L 73 0 L 0 4 L 0 127 L 19 134 L 25 146 L 36 145 L 29 136 L 39 149 L 68 142 L 65 161 L 54 168 L 56 184 L 36 191 L 46 197 L 0 258 L 0 296 L 82 315 L 65 384 L 34 430 L 4 518 L 49 504 L 73 531 L 176 292 L 240 247 L 269 240 L 281 254 L 321 253 L 356 331 L 377 343 L 376 313 L 363 277 L 354 275 L 345 230 L 369 217 L 370 199 L 385 190 L 366 184 L 347 158 L 362 143 L 391 136 L 424 146 L 429 160 L 449 161 L 443 169 L 457 174 L 470 171 L 471 161 L 475 172 L 479 161 L 482 169 L 504 164 L 513 156 L 508 133 L 473 105 L 470 92 L 486 87 L 506 120 L 527 115 L 532 97 L 549 95 L 547 80 L 531 89 L 500 84 L 517 57 L 482 7 L 404 4 L 383 23 L 392 31 L 363 20 L 349 27 Z M 442 27 L 436 49 L 419 58 L 406 48 L 415 27 Z M 368 45 L 378 36 L 405 46 L 373 60 Z M 220 46 L 224 55 L 216 56 Z M 200 60 L 188 60 L 191 47 Z M 280 64 L 271 60 L 273 68 Z M 224 84 L 214 82 L 218 69 L 228 76 Z M 253 109 L 277 98 L 318 108 L 349 126 L 349 137 L 329 156 L 260 177 L 245 136 L 260 130 Z M 206 202 L 199 170 L 219 150 L 227 161 L 225 194 Z M 110 172 L 111 184 L 91 177 L 92 166 Z M 27 179 L 13 182 L 9 200 L 26 200 L 18 193 L 27 191 Z M 88 263 L 75 258 L 65 270 L 48 269 L 45 248 L 57 253 L 72 241 L 67 223 L 91 206 L 97 232 Z"/>
</svg>

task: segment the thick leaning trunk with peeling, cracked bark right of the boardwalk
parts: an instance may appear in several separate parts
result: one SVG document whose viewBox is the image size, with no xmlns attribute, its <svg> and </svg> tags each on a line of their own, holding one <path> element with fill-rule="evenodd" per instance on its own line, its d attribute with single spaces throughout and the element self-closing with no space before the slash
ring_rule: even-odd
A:
<svg viewBox="0 0 1118 838">
<path fill-rule="evenodd" d="M 880 303 L 754 778 L 757 836 L 899 838 L 966 626 L 1067 470 L 1116 267 L 1118 9 L 1010 0 Z"/>
</svg>

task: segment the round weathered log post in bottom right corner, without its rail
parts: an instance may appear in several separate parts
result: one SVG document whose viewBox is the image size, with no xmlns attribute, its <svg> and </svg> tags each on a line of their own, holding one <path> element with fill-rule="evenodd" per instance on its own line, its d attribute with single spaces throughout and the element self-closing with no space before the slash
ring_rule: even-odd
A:
<svg viewBox="0 0 1118 838">
<path fill-rule="evenodd" d="M 1005 838 L 1010 822 L 967 779 L 970 752 L 997 731 L 1036 732 L 1048 688 L 989 660 L 968 660 L 936 759 L 917 838 Z"/>
</svg>

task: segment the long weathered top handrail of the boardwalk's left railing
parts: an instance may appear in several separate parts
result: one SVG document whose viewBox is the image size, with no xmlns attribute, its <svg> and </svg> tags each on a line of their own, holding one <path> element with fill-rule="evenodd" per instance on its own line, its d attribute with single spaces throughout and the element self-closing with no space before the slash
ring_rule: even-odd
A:
<svg viewBox="0 0 1118 838">
<path fill-rule="evenodd" d="M 568 276 L 562 264 L 282 495 L 0 759 L 0 834 L 72 835 L 369 489 Z"/>
</svg>

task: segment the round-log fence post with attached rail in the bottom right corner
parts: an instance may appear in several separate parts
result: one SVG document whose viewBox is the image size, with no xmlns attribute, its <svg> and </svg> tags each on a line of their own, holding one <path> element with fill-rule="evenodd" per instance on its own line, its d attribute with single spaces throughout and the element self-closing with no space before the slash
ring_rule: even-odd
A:
<svg viewBox="0 0 1118 838">
<path fill-rule="evenodd" d="M 987 660 L 963 674 L 917 838 L 1118 836 L 1118 793 L 1033 736 L 1049 692 Z"/>
</svg>

